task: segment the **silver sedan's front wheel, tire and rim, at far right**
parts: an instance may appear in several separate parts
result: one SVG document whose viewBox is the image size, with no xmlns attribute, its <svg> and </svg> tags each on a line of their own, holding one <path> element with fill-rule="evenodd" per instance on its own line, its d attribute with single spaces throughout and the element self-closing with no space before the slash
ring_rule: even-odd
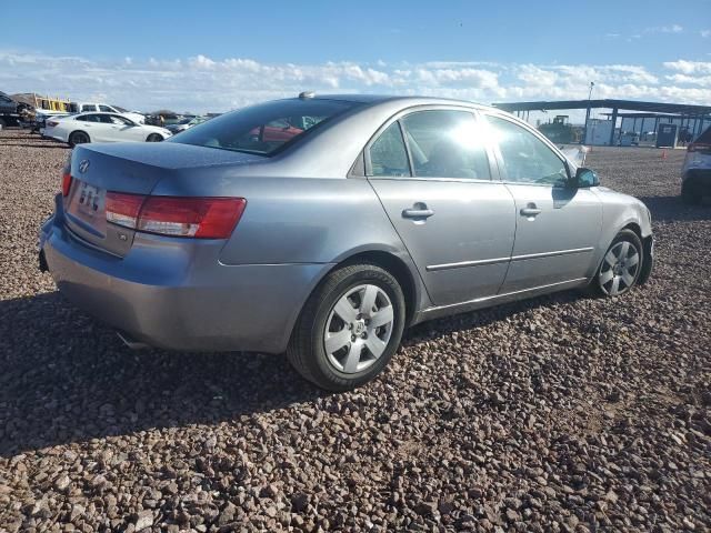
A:
<svg viewBox="0 0 711 533">
<path fill-rule="evenodd" d="M 593 292 L 602 296 L 625 294 L 638 283 L 644 261 L 644 248 L 637 233 L 620 231 L 598 266 Z"/>
</svg>

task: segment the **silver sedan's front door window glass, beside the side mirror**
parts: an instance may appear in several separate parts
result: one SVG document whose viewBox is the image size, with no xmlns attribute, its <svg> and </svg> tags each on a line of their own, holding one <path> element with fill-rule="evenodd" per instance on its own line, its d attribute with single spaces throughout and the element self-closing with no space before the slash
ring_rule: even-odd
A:
<svg viewBox="0 0 711 533">
<path fill-rule="evenodd" d="M 568 181 L 563 161 L 543 141 L 513 122 L 488 117 L 499 145 L 507 181 L 562 187 Z"/>
</svg>

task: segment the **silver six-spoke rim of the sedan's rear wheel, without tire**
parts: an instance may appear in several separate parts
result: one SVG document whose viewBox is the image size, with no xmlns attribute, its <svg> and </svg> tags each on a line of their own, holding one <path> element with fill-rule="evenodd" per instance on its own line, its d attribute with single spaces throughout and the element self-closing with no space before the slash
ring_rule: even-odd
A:
<svg viewBox="0 0 711 533">
<path fill-rule="evenodd" d="M 338 371 L 354 374 L 372 365 L 385 351 L 394 314 L 380 286 L 350 289 L 333 305 L 326 322 L 323 348 Z"/>
</svg>

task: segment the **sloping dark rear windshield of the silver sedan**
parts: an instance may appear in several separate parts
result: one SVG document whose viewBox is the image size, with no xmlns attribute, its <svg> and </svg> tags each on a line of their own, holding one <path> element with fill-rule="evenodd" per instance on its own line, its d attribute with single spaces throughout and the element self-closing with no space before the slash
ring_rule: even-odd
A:
<svg viewBox="0 0 711 533">
<path fill-rule="evenodd" d="M 167 142 L 272 155 L 309 130 L 328 122 L 358 102 L 342 100 L 277 100 L 222 114 Z"/>
</svg>

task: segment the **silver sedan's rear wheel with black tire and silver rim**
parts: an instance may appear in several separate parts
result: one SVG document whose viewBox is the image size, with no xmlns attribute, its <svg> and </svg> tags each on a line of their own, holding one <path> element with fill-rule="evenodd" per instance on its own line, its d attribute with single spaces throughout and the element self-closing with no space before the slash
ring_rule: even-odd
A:
<svg viewBox="0 0 711 533">
<path fill-rule="evenodd" d="M 402 338 L 404 296 L 373 264 L 350 264 L 326 276 L 304 305 L 287 356 L 307 380 L 332 392 L 369 382 Z"/>
</svg>

